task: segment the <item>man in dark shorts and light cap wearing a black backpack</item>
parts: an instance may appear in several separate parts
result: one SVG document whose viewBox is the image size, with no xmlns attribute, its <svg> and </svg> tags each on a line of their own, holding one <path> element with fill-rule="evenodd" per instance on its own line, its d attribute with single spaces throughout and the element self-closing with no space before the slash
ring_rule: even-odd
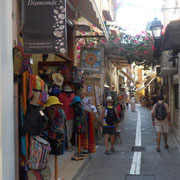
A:
<svg viewBox="0 0 180 180">
<path fill-rule="evenodd" d="M 114 142 L 115 142 L 115 133 L 116 133 L 116 126 L 117 126 L 117 110 L 112 106 L 113 99 L 111 96 L 107 97 L 107 106 L 103 110 L 102 113 L 102 127 L 103 127 L 103 134 L 105 140 L 105 154 L 110 155 L 110 151 L 114 152 Z M 109 136 L 111 141 L 111 148 L 109 151 Z"/>
</svg>

